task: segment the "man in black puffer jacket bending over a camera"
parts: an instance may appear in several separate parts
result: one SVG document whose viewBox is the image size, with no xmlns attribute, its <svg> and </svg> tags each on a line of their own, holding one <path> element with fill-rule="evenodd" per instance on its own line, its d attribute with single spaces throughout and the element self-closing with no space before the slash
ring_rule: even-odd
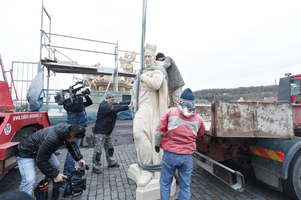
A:
<svg viewBox="0 0 301 200">
<path fill-rule="evenodd" d="M 85 137 L 86 129 L 78 125 L 60 123 L 46 127 L 22 140 L 16 148 L 15 156 L 21 173 L 22 182 L 19 191 L 31 195 L 35 182 L 35 168 L 46 175 L 46 179 L 62 182 L 67 178 L 59 173 L 60 163 L 53 154 L 58 148 L 66 144 L 70 154 L 79 164 L 85 165 L 75 141 Z"/>
</svg>

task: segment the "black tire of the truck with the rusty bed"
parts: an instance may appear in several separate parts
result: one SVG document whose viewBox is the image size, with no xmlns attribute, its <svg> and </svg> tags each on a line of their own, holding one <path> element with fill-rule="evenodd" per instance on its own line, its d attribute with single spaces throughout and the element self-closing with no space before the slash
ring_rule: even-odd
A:
<svg viewBox="0 0 301 200">
<path fill-rule="evenodd" d="M 281 180 L 283 192 L 294 199 L 301 199 L 301 150 L 291 160 L 286 180 Z"/>
</svg>

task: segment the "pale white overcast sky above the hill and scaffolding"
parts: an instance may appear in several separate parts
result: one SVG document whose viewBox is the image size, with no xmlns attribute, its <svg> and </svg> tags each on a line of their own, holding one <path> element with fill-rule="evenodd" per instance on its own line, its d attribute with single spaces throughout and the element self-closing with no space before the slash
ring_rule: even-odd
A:
<svg viewBox="0 0 301 200">
<path fill-rule="evenodd" d="M 44 6 L 51 14 L 51 33 L 118 41 L 119 50 L 140 53 L 141 0 L 44 0 Z M 41 7 L 40 0 L 1 2 L 0 53 L 6 70 L 12 61 L 39 61 Z M 285 73 L 301 74 L 300 8 L 299 0 L 149 0 L 145 43 L 157 44 L 157 52 L 175 60 L 184 88 L 266 86 L 275 84 L 275 79 L 278 84 Z M 49 32 L 48 18 L 43 17 L 43 29 Z M 116 46 L 66 37 L 51 39 L 54 46 L 98 52 L 114 53 Z M 58 51 L 81 65 L 114 67 L 112 55 Z M 60 54 L 57 58 L 68 60 Z M 139 55 L 135 61 L 140 62 Z M 134 69 L 139 68 L 140 64 L 134 63 Z M 72 84 L 70 75 L 50 77 L 50 89 L 67 89 Z"/>
</svg>

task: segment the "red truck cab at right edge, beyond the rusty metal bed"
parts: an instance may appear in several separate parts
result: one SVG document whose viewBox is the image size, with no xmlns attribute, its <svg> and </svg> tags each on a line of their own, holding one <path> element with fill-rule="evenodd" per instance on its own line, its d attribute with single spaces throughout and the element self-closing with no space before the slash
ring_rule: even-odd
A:
<svg viewBox="0 0 301 200">
<path fill-rule="evenodd" d="M 278 102 L 294 102 L 300 92 L 301 74 L 285 74 L 286 77 L 279 80 Z M 299 101 L 298 104 L 301 104 Z"/>
</svg>

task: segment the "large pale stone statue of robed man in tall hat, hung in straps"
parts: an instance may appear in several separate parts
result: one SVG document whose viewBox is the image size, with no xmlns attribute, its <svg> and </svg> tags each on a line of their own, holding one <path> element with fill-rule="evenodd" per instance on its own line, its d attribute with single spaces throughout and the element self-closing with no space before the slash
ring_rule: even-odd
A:
<svg viewBox="0 0 301 200">
<path fill-rule="evenodd" d="M 135 139 L 138 162 L 142 164 L 158 164 L 162 162 L 163 151 L 155 152 L 154 132 L 160 116 L 168 109 L 167 103 L 167 78 L 162 61 L 155 61 L 157 45 L 144 46 L 144 60 L 146 67 L 140 75 L 140 80 L 135 79 L 133 85 L 132 108 L 135 108 L 136 86 L 139 83 L 138 110 L 135 108 L 133 132 Z M 150 67 L 160 68 L 151 69 Z M 137 111 L 136 111 L 137 110 Z M 141 169 L 141 166 L 139 166 Z M 145 186 L 151 179 L 160 178 L 160 171 L 147 171 L 141 169 L 141 178 L 138 186 Z"/>
</svg>

